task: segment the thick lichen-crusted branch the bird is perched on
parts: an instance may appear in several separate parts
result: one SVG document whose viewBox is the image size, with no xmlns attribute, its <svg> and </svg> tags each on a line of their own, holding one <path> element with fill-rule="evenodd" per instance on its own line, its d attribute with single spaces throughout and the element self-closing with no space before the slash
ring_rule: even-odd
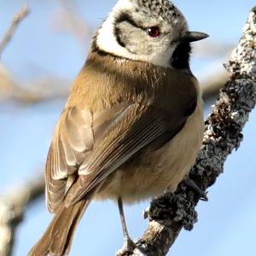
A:
<svg viewBox="0 0 256 256">
<path fill-rule="evenodd" d="M 255 107 L 256 7 L 250 12 L 240 43 L 225 67 L 230 79 L 220 90 L 218 102 L 207 118 L 203 147 L 189 173 L 203 191 L 215 183 L 223 172 L 227 156 L 239 148 L 242 128 Z M 152 201 L 146 212 L 148 230 L 137 241 L 137 249 L 123 255 L 166 255 L 180 230 L 192 230 L 197 221 L 195 206 L 200 197 L 182 183 L 175 195 L 166 193 Z"/>
</svg>

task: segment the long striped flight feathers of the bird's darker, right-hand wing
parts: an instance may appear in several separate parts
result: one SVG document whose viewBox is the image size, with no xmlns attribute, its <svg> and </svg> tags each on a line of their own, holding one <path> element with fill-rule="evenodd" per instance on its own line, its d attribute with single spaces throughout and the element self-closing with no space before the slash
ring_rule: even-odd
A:
<svg viewBox="0 0 256 256">
<path fill-rule="evenodd" d="M 107 146 L 102 145 L 102 148 L 97 148 L 90 159 L 80 166 L 79 181 L 67 195 L 67 205 L 80 201 L 132 155 L 152 143 L 165 131 L 166 125 L 163 119 L 157 117 L 150 119 L 150 123 L 142 125 L 141 129 L 131 130 L 124 138 L 117 137 Z"/>
</svg>

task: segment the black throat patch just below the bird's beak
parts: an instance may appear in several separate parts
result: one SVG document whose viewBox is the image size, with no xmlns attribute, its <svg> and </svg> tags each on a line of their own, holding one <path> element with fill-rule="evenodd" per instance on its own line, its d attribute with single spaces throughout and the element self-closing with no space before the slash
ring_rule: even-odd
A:
<svg viewBox="0 0 256 256">
<path fill-rule="evenodd" d="M 178 44 L 172 54 L 171 65 L 177 69 L 189 69 L 191 45 L 189 43 Z"/>
</svg>

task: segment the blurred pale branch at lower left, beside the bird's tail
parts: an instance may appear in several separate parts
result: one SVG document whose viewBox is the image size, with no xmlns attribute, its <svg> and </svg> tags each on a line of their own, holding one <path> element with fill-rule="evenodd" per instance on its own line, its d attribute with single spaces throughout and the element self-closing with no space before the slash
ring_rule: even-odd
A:
<svg viewBox="0 0 256 256">
<path fill-rule="evenodd" d="M 15 243 L 15 231 L 22 221 L 25 207 L 44 194 L 44 177 L 36 177 L 8 195 L 0 197 L 0 255 L 10 256 Z"/>
</svg>

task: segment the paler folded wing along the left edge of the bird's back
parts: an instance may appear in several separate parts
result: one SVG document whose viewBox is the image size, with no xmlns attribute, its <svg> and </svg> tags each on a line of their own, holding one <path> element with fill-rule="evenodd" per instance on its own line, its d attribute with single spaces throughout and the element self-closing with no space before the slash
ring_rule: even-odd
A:
<svg viewBox="0 0 256 256">
<path fill-rule="evenodd" d="M 68 108 L 55 128 L 46 163 L 46 201 L 49 212 L 55 212 L 78 176 L 79 166 L 97 141 L 108 134 L 114 121 L 127 108 L 119 104 L 102 112 Z"/>
</svg>

